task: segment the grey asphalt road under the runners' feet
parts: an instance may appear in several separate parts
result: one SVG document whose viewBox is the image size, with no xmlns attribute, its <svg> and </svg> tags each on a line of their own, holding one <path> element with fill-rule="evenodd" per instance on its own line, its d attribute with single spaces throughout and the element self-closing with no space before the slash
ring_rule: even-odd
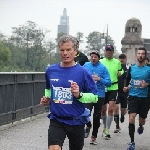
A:
<svg viewBox="0 0 150 150">
<path fill-rule="evenodd" d="M 27 118 L 13 125 L 0 126 L 0 150 L 47 150 L 47 129 L 49 120 L 47 114 Z M 102 138 L 103 125 L 99 128 L 97 145 L 90 145 L 90 137 L 85 139 L 83 150 L 126 150 L 130 142 L 128 135 L 128 115 L 121 124 L 121 133 L 113 133 L 115 122 L 112 122 L 111 140 Z M 136 117 L 136 130 L 138 116 Z M 148 115 L 144 133 L 135 132 L 136 150 L 150 150 L 150 115 Z M 68 150 L 68 139 L 65 140 L 63 150 Z"/>
</svg>

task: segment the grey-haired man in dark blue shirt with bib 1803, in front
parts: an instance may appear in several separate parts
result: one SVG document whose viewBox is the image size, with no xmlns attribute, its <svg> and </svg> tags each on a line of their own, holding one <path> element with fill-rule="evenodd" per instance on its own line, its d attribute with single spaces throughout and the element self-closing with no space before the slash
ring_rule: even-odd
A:
<svg viewBox="0 0 150 150">
<path fill-rule="evenodd" d="M 64 35 L 58 47 L 62 62 L 47 67 L 45 96 L 40 101 L 42 106 L 50 105 L 48 148 L 61 150 L 67 136 L 69 150 L 82 150 L 84 126 L 90 120 L 84 103 L 97 103 L 97 87 L 88 70 L 74 61 L 76 39 Z"/>
</svg>

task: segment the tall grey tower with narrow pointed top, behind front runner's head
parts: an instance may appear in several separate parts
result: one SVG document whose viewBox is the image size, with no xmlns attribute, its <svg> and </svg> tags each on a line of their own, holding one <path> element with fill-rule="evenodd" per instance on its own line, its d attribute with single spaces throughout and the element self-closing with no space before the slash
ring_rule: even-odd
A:
<svg viewBox="0 0 150 150">
<path fill-rule="evenodd" d="M 69 34 L 69 16 L 67 16 L 67 10 L 64 8 L 63 15 L 60 17 L 60 25 L 58 25 L 58 34 Z"/>
</svg>

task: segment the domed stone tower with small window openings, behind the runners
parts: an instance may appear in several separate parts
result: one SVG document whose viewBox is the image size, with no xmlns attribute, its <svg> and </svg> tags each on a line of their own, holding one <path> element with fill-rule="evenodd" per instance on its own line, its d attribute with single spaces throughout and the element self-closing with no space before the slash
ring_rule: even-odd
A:
<svg viewBox="0 0 150 150">
<path fill-rule="evenodd" d="M 139 47 L 143 47 L 142 24 L 139 19 L 131 18 L 125 26 L 125 35 L 121 40 L 121 51 L 127 56 L 127 62 L 134 64 L 136 62 L 136 53 Z"/>
</svg>

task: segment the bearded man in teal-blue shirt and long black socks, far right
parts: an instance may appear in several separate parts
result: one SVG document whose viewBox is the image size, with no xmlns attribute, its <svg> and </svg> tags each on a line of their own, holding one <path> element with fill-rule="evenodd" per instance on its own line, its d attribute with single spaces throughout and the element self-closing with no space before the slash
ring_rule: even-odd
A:
<svg viewBox="0 0 150 150">
<path fill-rule="evenodd" d="M 129 113 L 129 136 L 131 143 L 127 150 L 135 149 L 134 132 L 135 117 L 139 114 L 138 134 L 142 134 L 145 119 L 148 114 L 148 85 L 150 84 L 150 67 L 145 64 L 147 51 L 140 47 L 137 51 L 137 63 L 129 68 L 124 92 L 129 90 L 128 113 Z"/>
</svg>

